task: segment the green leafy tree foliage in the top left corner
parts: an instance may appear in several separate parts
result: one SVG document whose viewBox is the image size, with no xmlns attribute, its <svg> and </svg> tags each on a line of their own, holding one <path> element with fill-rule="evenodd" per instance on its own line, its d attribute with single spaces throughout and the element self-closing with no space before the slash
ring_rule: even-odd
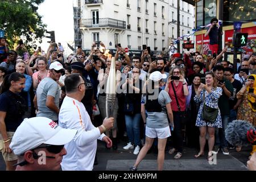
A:
<svg viewBox="0 0 256 182">
<path fill-rule="evenodd" d="M 10 46 L 23 39 L 27 48 L 35 48 L 36 40 L 42 42 L 46 24 L 36 11 L 44 0 L 1 0 L 0 29 L 5 30 Z"/>
</svg>

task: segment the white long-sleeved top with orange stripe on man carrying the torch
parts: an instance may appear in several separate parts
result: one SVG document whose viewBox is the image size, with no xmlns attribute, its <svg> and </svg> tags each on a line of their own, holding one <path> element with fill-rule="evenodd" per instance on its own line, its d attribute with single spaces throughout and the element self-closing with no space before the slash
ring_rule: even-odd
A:
<svg viewBox="0 0 256 182">
<path fill-rule="evenodd" d="M 59 126 L 78 130 L 73 140 L 65 144 L 67 155 L 63 156 L 62 170 L 92 171 L 97 139 L 102 140 L 105 134 L 93 126 L 82 102 L 68 96 L 64 98 L 59 113 Z"/>
</svg>

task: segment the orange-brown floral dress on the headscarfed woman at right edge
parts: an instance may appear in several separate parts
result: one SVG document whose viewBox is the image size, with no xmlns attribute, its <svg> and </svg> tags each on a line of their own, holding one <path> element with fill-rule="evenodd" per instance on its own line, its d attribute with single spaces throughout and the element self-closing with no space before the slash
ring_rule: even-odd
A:
<svg viewBox="0 0 256 182">
<path fill-rule="evenodd" d="M 249 106 L 248 91 L 245 90 L 244 94 L 238 92 L 237 98 L 242 99 L 242 103 L 237 109 L 237 119 L 248 121 L 253 124 L 253 126 L 256 126 L 256 112 L 254 112 Z"/>
</svg>

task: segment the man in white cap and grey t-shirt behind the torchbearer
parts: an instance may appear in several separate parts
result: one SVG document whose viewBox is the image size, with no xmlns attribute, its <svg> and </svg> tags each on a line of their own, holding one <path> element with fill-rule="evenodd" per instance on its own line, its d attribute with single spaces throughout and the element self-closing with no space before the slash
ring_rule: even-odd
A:
<svg viewBox="0 0 256 182">
<path fill-rule="evenodd" d="M 58 121 L 60 89 L 57 81 L 64 71 L 63 65 L 55 61 L 49 66 L 49 77 L 40 81 L 34 98 L 37 117 L 47 117 L 55 122 Z"/>
</svg>

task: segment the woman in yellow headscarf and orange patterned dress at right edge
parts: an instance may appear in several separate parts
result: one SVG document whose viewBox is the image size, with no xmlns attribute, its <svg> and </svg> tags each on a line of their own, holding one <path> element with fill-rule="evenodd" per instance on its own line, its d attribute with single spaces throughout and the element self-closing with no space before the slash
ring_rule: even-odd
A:
<svg viewBox="0 0 256 182">
<path fill-rule="evenodd" d="M 245 86 L 237 93 L 237 98 L 241 104 L 238 106 L 237 119 L 245 120 L 256 126 L 256 75 L 250 75 Z M 256 151 L 256 147 L 253 147 Z M 241 151 L 241 146 L 237 146 L 237 152 Z"/>
</svg>

